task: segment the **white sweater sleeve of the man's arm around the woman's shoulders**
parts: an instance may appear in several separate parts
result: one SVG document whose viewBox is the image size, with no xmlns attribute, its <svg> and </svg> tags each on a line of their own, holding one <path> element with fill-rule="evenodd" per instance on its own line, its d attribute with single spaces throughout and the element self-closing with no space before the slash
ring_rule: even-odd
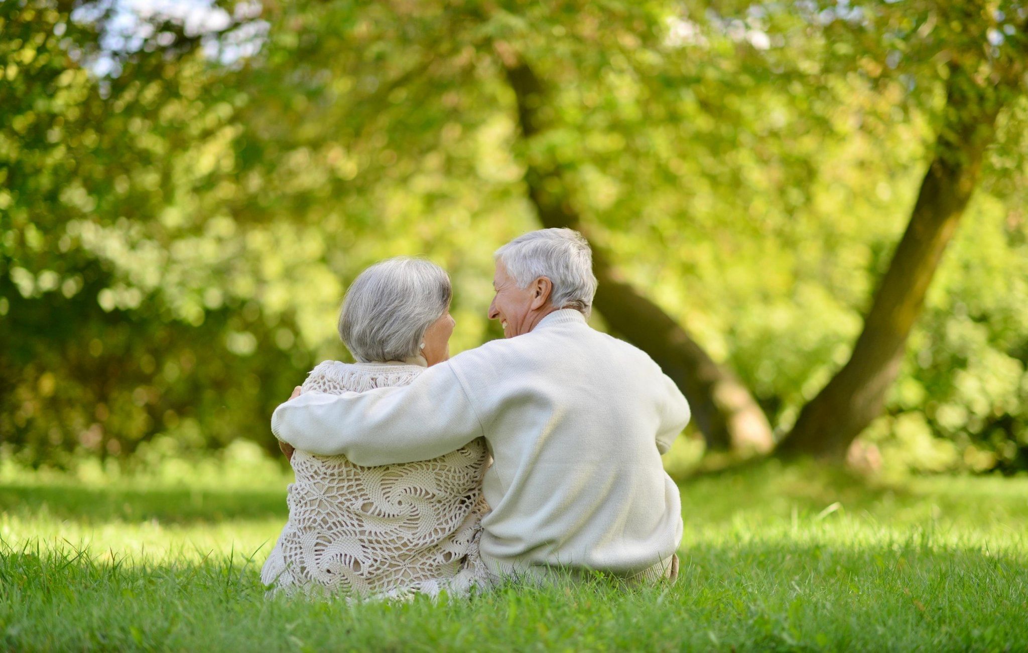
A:
<svg viewBox="0 0 1028 653">
<path fill-rule="evenodd" d="M 305 392 L 274 410 L 271 432 L 296 449 L 341 454 L 362 466 L 436 458 L 483 434 L 449 362 L 406 386 Z"/>
</svg>

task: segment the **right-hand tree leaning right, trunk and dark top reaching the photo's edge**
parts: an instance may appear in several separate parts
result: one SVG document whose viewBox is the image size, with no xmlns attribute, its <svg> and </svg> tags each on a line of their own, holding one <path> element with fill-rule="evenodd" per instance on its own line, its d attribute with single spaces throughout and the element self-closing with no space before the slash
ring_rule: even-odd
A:
<svg viewBox="0 0 1028 653">
<path fill-rule="evenodd" d="M 779 455 L 841 459 L 882 413 L 928 286 L 979 185 L 983 157 L 996 133 L 996 118 L 1023 83 L 1028 23 L 1021 18 L 1025 9 L 996 10 L 995 15 L 1005 18 L 1009 14 L 1014 21 L 1008 24 L 1013 38 L 1003 39 L 1002 49 L 993 43 L 989 55 L 983 56 L 993 40 L 987 38 L 987 28 L 996 28 L 990 20 L 992 11 L 974 2 L 941 11 L 943 21 L 952 21 L 949 27 L 957 34 L 949 45 L 946 103 L 932 159 L 910 222 L 879 281 L 849 360 L 803 407 L 777 449 Z"/>
</svg>

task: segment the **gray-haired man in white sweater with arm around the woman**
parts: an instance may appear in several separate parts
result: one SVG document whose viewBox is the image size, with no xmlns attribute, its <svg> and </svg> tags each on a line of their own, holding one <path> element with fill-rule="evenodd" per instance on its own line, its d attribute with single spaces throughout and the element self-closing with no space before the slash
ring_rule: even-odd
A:
<svg viewBox="0 0 1028 653">
<path fill-rule="evenodd" d="M 505 340 L 404 387 L 301 394 L 274 411 L 271 430 L 358 465 L 435 458 L 484 436 L 492 511 L 481 558 L 493 575 L 674 578 L 681 505 L 660 455 L 689 421 L 685 397 L 646 353 L 586 323 L 596 278 L 578 232 L 512 240 L 493 284 L 489 318 Z"/>
</svg>

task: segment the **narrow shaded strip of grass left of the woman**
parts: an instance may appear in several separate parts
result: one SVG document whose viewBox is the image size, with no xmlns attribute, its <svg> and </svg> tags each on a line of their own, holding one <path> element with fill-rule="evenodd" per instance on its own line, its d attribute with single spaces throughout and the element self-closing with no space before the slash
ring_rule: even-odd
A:
<svg viewBox="0 0 1028 653">
<path fill-rule="evenodd" d="M 74 485 L 0 486 L 0 511 L 46 514 L 82 524 L 147 522 L 215 524 L 231 520 L 285 518 L 285 487 L 264 490 L 190 488 L 83 488 Z"/>
</svg>

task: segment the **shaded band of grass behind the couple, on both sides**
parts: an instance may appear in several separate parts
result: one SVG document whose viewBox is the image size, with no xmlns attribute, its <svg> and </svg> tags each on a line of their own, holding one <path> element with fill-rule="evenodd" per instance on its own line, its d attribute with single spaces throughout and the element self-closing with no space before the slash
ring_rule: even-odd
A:
<svg viewBox="0 0 1028 653">
<path fill-rule="evenodd" d="M 884 483 L 838 468 L 761 461 L 718 474 L 678 481 L 687 528 L 723 525 L 738 513 L 790 520 L 842 510 L 895 527 L 917 526 L 933 513 L 961 527 L 1028 524 L 1028 478 L 944 477 Z M 838 506 L 836 506 L 838 504 Z M 835 506 L 835 507 L 833 507 Z M 73 482 L 0 485 L 0 512 L 47 515 L 81 524 L 112 521 L 221 524 L 232 520 L 285 521 L 286 488 L 189 488 Z"/>
</svg>

